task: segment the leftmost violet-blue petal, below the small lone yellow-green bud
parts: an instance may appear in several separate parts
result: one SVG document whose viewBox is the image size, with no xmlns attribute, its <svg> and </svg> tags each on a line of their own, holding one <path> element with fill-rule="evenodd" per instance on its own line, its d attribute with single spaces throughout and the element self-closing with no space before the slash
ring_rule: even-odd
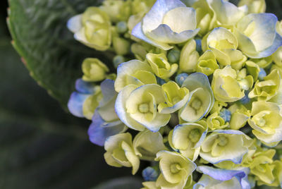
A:
<svg viewBox="0 0 282 189">
<path fill-rule="evenodd" d="M 90 94 L 81 94 L 79 92 L 73 92 L 71 94 L 71 97 L 68 100 L 68 110 L 71 111 L 71 114 L 84 118 L 82 106 L 87 97 L 90 97 Z"/>
</svg>

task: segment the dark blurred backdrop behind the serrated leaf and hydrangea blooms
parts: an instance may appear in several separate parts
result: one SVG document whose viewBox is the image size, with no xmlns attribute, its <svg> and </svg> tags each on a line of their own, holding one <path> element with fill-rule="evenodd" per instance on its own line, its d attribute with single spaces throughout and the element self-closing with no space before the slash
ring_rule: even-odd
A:
<svg viewBox="0 0 282 189">
<path fill-rule="evenodd" d="M 281 19 L 281 0 L 266 1 Z M 141 171 L 133 179 L 130 169 L 108 166 L 104 148 L 87 138 L 90 121 L 68 114 L 30 77 L 11 45 L 7 7 L 1 1 L 0 188 L 138 188 Z"/>
</svg>

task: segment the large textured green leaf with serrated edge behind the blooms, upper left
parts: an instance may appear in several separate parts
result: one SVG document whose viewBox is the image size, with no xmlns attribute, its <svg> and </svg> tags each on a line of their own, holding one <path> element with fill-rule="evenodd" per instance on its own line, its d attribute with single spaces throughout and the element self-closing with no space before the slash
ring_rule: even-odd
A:
<svg viewBox="0 0 282 189">
<path fill-rule="evenodd" d="M 66 106 L 83 59 L 97 57 L 111 63 L 109 52 L 94 51 L 76 42 L 66 28 L 69 18 L 98 0 L 10 0 L 8 28 L 30 75 Z"/>
</svg>

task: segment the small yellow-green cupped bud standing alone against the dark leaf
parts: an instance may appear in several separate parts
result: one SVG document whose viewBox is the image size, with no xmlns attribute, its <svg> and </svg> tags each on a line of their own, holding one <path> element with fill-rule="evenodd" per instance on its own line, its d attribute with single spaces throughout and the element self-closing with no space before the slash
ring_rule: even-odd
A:
<svg viewBox="0 0 282 189">
<path fill-rule="evenodd" d="M 106 78 L 106 73 L 109 72 L 109 68 L 99 61 L 99 59 L 88 58 L 82 63 L 82 80 L 97 82 Z"/>
</svg>

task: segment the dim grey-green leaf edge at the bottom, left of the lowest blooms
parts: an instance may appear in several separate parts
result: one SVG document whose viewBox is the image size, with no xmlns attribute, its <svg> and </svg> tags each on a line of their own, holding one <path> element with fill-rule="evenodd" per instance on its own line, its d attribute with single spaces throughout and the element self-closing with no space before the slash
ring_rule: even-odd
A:
<svg viewBox="0 0 282 189">
<path fill-rule="evenodd" d="M 123 177 L 106 181 L 106 183 L 102 183 L 92 189 L 133 189 L 141 187 L 142 181 L 140 179 L 137 179 L 135 177 Z"/>
</svg>

